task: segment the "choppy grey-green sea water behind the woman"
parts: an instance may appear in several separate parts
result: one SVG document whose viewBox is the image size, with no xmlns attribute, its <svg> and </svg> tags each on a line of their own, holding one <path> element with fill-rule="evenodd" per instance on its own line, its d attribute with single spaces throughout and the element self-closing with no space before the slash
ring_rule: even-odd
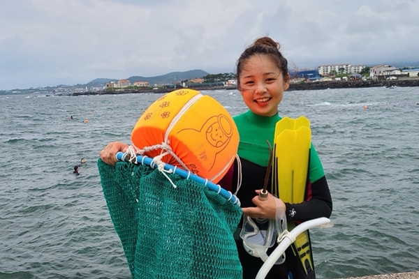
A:
<svg viewBox="0 0 419 279">
<path fill-rule="evenodd" d="M 96 160 L 160 96 L 0 96 L 0 278 L 130 278 Z M 318 278 L 417 271 L 419 87 L 288 91 L 279 110 L 311 120 L 332 194 L 334 227 L 311 229 Z"/>
</svg>

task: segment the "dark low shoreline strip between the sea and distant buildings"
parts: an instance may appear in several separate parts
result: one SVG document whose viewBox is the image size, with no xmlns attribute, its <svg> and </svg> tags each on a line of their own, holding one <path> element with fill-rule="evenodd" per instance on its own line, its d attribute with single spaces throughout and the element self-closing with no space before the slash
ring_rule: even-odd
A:
<svg viewBox="0 0 419 279">
<path fill-rule="evenodd" d="M 297 90 L 323 90 L 323 89 L 345 89 L 345 88 L 367 88 L 367 87 L 415 87 L 419 86 L 419 78 L 404 79 L 404 80 L 378 80 L 378 81 L 360 81 L 360 82 L 307 82 L 300 84 L 290 84 L 288 91 Z M 198 91 L 206 90 L 234 90 L 235 87 L 229 86 L 202 86 L 193 87 L 191 89 Z M 65 96 L 86 96 L 86 95 L 117 95 L 128 93 L 168 93 L 175 89 L 140 89 L 140 90 L 121 90 L 121 91 L 84 91 L 84 92 L 71 92 L 61 94 Z"/>
</svg>

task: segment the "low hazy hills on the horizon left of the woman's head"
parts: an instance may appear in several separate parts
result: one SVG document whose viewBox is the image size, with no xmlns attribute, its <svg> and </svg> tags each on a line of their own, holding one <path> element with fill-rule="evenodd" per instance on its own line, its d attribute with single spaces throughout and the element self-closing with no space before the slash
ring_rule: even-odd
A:
<svg viewBox="0 0 419 279">
<path fill-rule="evenodd" d="M 205 77 L 205 75 L 209 74 L 210 73 L 205 72 L 205 70 L 187 70 L 186 72 L 172 72 L 166 75 L 158 75 L 156 77 L 133 75 L 132 77 L 128 77 L 128 80 L 131 84 L 134 82 L 149 82 L 150 86 L 154 86 L 154 84 L 172 84 L 173 82 L 180 82 L 182 80 L 196 79 L 199 77 Z M 97 78 L 87 83 L 86 86 L 105 86 L 108 82 L 118 82 L 118 80 Z"/>
</svg>

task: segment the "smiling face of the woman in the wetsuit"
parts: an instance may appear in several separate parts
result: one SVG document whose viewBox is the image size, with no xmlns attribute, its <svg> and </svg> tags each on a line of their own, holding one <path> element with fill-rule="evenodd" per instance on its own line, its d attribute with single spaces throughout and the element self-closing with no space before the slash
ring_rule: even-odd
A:
<svg viewBox="0 0 419 279">
<path fill-rule="evenodd" d="M 281 70 L 263 54 L 251 56 L 243 63 L 239 80 L 244 103 L 260 116 L 278 113 L 278 105 L 290 85 L 289 74 L 284 80 Z"/>
</svg>

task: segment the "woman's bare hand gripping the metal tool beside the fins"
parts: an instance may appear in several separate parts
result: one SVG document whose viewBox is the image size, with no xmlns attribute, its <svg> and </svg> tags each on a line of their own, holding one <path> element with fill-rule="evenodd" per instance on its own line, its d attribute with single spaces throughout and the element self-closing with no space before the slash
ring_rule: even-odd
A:
<svg viewBox="0 0 419 279">
<path fill-rule="evenodd" d="M 275 219 L 277 210 L 286 210 L 286 206 L 281 199 L 274 197 L 268 193 L 266 200 L 259 199 L 260 190 L 256 190 L 256 196 L 251 199 L 251 202 L 256 205 L 256 207 L 244 207 L 242 211 L 244 214 L 251 218 L 264 218 L 264 219 Z M 279 209 L 277 209 L 279 206 Z"/>
</svg>

